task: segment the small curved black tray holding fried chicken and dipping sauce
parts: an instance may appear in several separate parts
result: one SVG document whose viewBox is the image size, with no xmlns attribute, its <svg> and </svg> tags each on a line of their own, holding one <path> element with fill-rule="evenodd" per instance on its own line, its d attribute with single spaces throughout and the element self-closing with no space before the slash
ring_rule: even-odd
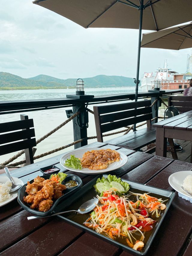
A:
<svg viewBox="0 0 192 256">
<path fill-rule="evenodd" d="M 49 179 L 49 177 L 52 175 L 52 173 L 49 173 L 49 174 L 46 174 L 46 175 L 43 175 L 41 177 L 43 177 L 44 179 Z M 68 198 L 71 194 L 73 194 L 75 191 L 79 190 L 79 188 L 82 187 L 82 180 L 79 178 L 79 176 L 76 176 L 76 175 L 72 175 L 72 174 L 67 174 L 67 177 L 62 181 L 62 184 L 68 180 L 75 180 L 78 185 L 75 186 L 75 187 L 72 187 L 72 188 L 67 188 L 64 190 L 64 195 L 59 197 L 52 205 L 52 207 L 50 208 L 49 211 L 47 212 L 40 212 L 38 210 L 34 210 L 34 209 L 31 209 L 30 208 L 30 205 L 28 203 L 24 203 L 23 202 L 23 197 L 27 195 L 26 193 L 26 185 L 23 185 L 19 191 L 18 191 L 18 196 L 17 196 L 17 201 L 18 203 L 20 204 L 20 206 L 22 206 L 26 211 L 28 212 L 31 212 L 35 215 L 41 215 L 41 216 L 47 216 L 47 215 L 50 215 L 53 210 L 55 209 L 55 207 L 57 206 L 57 204 L 59 202 L 61 202 L 61 200 L 64 200 L 65 198 Z M 32 183 L 34 180 L 32 179 L 30 181 L 30 183 Z"/>
</svg>

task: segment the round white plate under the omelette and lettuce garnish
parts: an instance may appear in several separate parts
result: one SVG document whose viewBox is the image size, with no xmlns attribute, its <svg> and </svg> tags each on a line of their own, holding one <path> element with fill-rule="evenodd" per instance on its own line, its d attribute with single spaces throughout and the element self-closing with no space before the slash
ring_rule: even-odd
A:
<svg viewBox="0 0 192 256">
<path fill-rule="evenodd" d="M 75 149 L 73 151 L 68 152 L 67 154 L 63 155 L 60 159 L 60 164 L 65 167 L 66 169 L 70 170 L 70 171 L 74 171 L 77 173 L 87 173 L 87 174 L 99 174 L 99 173 L 106 173 L 106 172 L 110 172 L 113 170 L 116 170 L 120 167 L 122 167 L 124 164 L 127 163 L 127 156 L 121 152 L 119 152 L 120 154 L 120 160 L 119 162 L 114 162 L 112 164 L 109 164 L 109 166 L 106 169 L 102 169 L 102 170 L 90 170 L 88 168 L 82 168 L 81 170 L 79 169 L 74 169 L 68 166 L 65 166 L 65 160 L 67 158 L 70 158 L 70 155 L 75 155 L 75 157 L 77 158 L 82 158 L 83 154 L 87 151 L 91 151 L 91 150 L 100 150 L 100 149 L 107 149 L 107 148 L 84 148 L 84 149 Z"/>
</svg>

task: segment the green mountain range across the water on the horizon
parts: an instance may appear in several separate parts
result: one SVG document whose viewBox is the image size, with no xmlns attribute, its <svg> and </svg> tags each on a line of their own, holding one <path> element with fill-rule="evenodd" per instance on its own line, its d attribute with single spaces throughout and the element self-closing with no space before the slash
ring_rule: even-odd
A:
<svg viewBox="0 0 192 256">
<path fill-rule="evenodd" d="M 87 88 L 135 86 L 131 77 L 98 75 L 82 79 Z M 76 80 L 76 78 L 64 80 L 47 75 L 22 78 L 10 73 L 0 72 L 0 90 L 75 88 Z"/>
</svg>

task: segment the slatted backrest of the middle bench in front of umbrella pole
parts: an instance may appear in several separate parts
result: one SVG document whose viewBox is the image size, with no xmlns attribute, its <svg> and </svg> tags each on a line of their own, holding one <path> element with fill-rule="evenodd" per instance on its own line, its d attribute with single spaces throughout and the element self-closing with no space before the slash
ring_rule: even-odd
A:
<svg viewBox="0 0 192 256">
<path fill-rule="evenodd" d="M 151 126 L 151 100 L 107 106 L 94 106 L 93 110 L 97 140 L 99 142 L 103 142 L 103 133 L 107 131 L 112 131 L 143 121 L 147 121 L 147 126 Z"/>
</svg>

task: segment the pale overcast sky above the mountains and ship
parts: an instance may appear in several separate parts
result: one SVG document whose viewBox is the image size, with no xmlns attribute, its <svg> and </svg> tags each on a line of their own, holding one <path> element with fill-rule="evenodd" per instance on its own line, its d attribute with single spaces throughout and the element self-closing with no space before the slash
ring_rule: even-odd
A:
<svg viewBox="0 0 192 256">
<path fill-rule="evenodd" d="M 146 33 L 149 31 L 143 31 Z M 96 75 L 136 76 L 138 30 L 84 29 L 32 4 L 31 0 L 1 0 L 0 71 L 24 78 L 46 74 L 62 79 Z M 164 60 L 168 68 L 186 71 L 187 54 L 141 49 L 140 77 Z"/>
</svg>

